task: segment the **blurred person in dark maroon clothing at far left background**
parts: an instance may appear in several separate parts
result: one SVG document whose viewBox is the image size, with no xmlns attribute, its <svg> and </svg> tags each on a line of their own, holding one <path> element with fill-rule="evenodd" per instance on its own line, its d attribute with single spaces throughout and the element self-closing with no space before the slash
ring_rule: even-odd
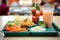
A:
<svg viewBox="0 0 60 40">
<path fill-rule="evenodd" d="M 0 4 L 0 15 L 8 15 L 9 7 L 6 4 L 6 0 L 2 0 L 2 4 Z"/>
</svg>

